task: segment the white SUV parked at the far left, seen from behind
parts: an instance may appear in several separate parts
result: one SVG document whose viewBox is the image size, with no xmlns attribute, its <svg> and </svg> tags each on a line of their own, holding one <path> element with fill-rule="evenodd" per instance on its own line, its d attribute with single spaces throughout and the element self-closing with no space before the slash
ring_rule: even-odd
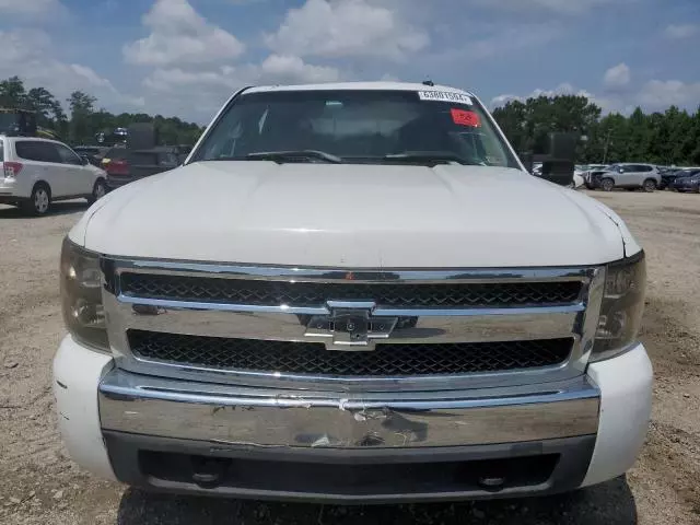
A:
<svg viewBox="0 0 700 525">
<path fill-rule="evenodd" d="M 0 203 L 43 215 L 51 201 L 105 195 L 106 174 L 55 140 L 0 137 Z"/>
</svg>

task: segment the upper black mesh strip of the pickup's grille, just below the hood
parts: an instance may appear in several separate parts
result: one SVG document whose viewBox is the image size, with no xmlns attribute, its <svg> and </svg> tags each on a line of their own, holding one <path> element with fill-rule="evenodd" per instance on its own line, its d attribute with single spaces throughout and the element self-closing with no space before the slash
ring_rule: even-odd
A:
<svg viewBox="0 0 700 525">
<path fill-rule="evenodd" d="M 401 308 L 465 308 L 571 304 L 579 300 L 582 283 L 326 283 L 125 272 L 120 289 L 136 298 L 260 306 L 323 306 L 326 301 L 342 300 Z"/>
</svg>

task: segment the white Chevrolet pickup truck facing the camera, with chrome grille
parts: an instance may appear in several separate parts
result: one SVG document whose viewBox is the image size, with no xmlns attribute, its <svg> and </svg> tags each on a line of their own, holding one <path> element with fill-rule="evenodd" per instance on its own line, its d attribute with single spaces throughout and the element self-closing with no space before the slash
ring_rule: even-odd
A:
<svg viewBox="0 0 700 525">
<path fill-rule="evenodd" d="M 58 420 L 103 478 L 538 495 L 625 474 L 646 433 L 641 247 L 465 91 L 242 90 L 183 166 L 88 210 L 60 272 Z"/>
</svg>

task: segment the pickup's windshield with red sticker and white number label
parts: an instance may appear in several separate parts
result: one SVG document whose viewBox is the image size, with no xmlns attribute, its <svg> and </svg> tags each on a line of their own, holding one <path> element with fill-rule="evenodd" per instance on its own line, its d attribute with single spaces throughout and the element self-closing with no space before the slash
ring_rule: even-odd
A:
<svg viewBox="0 0 700 525">
<path fill-rule="evenodd" d="M 440 92 L 244 93 L 215 122 L 192 162 L 428 163 L 436 159 L 520 168 L 477 101 L 434 93 Z M 291 152 L 295 154 L 279 155 Z"/>
</svg>

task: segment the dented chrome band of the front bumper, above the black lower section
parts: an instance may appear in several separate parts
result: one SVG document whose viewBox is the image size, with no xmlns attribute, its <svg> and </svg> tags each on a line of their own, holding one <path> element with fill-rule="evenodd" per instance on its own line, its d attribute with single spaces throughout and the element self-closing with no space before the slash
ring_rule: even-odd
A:
<svg viewBox="0 0 700 525">
<path fill-rule="evenodd" d="M 119 369 L 103 430 L 243 447 L 415 448 L 595 434 L 599 390 L 564 383 L 430 393 L 328 393 L 164 380 Z"/>
</svg>

